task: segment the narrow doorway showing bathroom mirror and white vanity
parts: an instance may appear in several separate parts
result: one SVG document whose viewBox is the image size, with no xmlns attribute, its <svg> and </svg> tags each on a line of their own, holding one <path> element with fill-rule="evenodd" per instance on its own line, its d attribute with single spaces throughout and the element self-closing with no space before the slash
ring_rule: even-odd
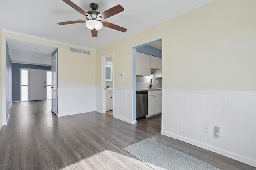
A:
<svg viewBox="0 0 256 170">
<path fill-rule="evenodd" d="M 102 113 L 114 115 L 114 53 L 102 55 Z"/>
</svg>

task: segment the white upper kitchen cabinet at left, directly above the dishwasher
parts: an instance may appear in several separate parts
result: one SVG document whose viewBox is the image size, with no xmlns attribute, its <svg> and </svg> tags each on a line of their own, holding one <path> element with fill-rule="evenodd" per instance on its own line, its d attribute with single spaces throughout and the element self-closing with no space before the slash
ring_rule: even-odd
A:
<svg viewBox="0 0 256 170">
<path fill-rule="evenodd" d="M 136 75 L 150 76 L 150 55 L 136 51 Z"/>
</svg>

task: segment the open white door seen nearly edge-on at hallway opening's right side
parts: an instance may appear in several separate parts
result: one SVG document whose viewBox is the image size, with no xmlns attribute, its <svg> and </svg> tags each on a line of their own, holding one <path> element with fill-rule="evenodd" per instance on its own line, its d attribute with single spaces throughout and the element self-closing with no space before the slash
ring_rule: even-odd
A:
<svg viewBox="0 0 256 170">
<path fill-rule="evenodd" d="M 57 53 L 52 56 L 52 112 L 57 113 Z"/>
</svg>

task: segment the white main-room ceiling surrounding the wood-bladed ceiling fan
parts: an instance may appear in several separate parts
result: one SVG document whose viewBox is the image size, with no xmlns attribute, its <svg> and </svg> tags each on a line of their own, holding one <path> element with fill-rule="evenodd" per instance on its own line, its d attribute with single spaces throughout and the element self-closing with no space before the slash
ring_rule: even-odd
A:
<svg viewBox="0 0 256 170">
<path fill-rule="evenodd" d="M 212 0 L 72 0 L 85 11 L 90 3 L 99 5 L 103 12 L 118 4 L 124 11 L 107 18 L 108 21 L 127 28 L 125 33 L 103 27 L 98 37 L 92 38 L 85 23 L 58 25 L 57 22 L 86 20 L 62 0 L 2 0 L 0 1 L 0 29 L 6 32 L 29 35 L 50 41 L 66 43 L 88 49 L 100 49 L 126 37 L 144 31 L 154 25 L 170 20 Z M 16 41 L 18 43 L 18 41 Z M 19 43 L 18 43 L 19 44 Z M 27 44 L 29 45 L 29 44 Z M 18 49 L 9 45 L 12 49 Z M 9 47 L 9 48 L 11 48 Z M 31 47 L 31 53 L 34 47 Z M 40 47 L 41 48 L 41 47 Z M 34 49 L 33 49 L 34 50 Z M 36 51 L 38 52 L 38 51 Z M 15 50 L 10 50 L 15 53 Z"/>
</svg>

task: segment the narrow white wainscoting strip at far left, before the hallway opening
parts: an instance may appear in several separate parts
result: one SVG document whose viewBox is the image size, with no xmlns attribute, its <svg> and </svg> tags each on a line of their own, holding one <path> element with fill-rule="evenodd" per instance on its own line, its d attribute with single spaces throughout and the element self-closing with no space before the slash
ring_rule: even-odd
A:
<svg viewBox="0 0 256 170">
<path fill-rule="evenodd" d="M 6 89 L 5 87 L 1 87 L 1 121 L 0 125 L 1 127 L 4 125 L 7 125 L 7 119 L 6 119 Z"/>
</svg>

